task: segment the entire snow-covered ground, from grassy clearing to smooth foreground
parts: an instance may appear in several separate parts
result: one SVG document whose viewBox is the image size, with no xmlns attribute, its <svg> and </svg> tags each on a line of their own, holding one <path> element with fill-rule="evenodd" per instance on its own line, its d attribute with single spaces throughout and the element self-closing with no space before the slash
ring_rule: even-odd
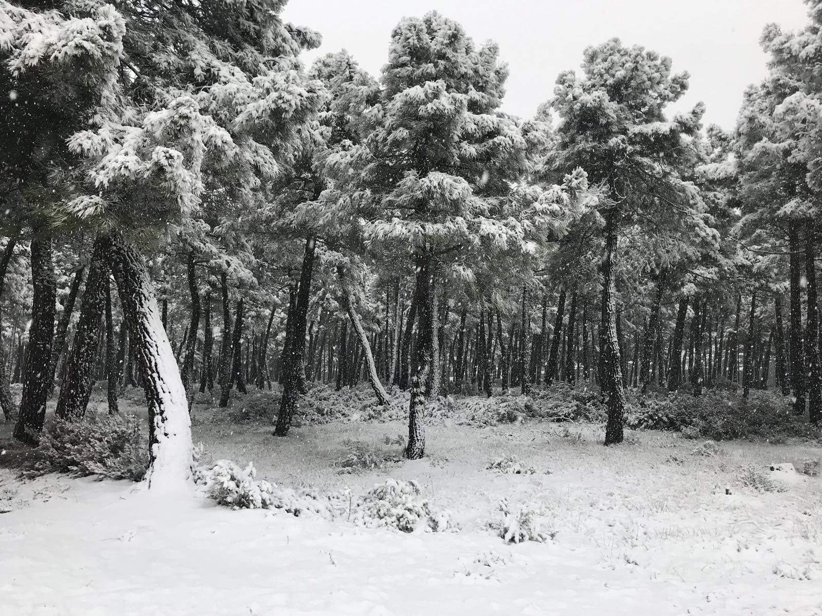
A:
<svg viewBox="0 0 822 616">
<path fill-rule="evenodd" d="M 822 479 L 769 471 L 818 459 L 810 441 L 701 455 L 672 432 L 605 448 L 584 423 L 446 423 L 428 430 L 423 460 L 340 474 L 349 441 L 379 448 L 404 424 L 331 421 L 277 439 L 267 421 L 220 412 L 195 414 L 207 459 L 318 492 L 417 480 L 461 530 L 407 535 L 0 468 L 0 613 L 822 614 Z M 10 434 L 0 424 L 0 447 Z M 510 454 L 536 472 L 487 470 Z M 556 535 L 506 544 L 487 529 L 501 499 L 541 506 Z"/>
</svg>

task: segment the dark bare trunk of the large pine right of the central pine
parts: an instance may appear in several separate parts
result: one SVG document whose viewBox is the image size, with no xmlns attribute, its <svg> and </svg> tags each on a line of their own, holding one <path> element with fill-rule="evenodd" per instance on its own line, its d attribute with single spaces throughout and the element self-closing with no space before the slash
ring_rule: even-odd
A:
<svg viewBox="0 0 822 616">
<path fill-rule="evenodd" d="M 616 214 L 609 211 L 606 217 L 605 252 L 602 260 L 603 304 L 601 337 L 600 383 L 607 398 L 608 420 L 605 426 L 605 444 L 621 443 L 622 424 L 625 417 L 625 389 L 622 386 L 622 370 L 617 338 L 617 298 L 614 281 L 614 260 L 617 253 Z"/>
</svg>

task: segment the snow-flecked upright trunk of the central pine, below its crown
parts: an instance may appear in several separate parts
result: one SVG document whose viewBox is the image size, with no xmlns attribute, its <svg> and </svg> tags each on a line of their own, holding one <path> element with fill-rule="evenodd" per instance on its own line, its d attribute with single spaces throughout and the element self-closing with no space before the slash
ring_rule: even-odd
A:
<svg viewBox="0 0 822 616">
<path fill-rule="evenodd" d="M 434 272 L 432 255 L 423 253 L 416 257 L 416 287 L 418 301 L 417 348 L 414 364 L 417 367 L 411 384 L 409 401 L 409 442 L 405 455 L 418 460 L 425 455 L 425 398 L 426 384 L 434 370 Z"/>
</svg>

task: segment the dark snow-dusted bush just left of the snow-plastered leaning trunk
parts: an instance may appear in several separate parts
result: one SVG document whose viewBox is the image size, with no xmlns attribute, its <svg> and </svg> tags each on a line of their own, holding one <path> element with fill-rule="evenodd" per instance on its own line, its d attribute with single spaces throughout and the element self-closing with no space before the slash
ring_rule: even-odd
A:
<svg viewBox="0 0 822 616">
<path fill-rule="evenodd" d="M 148 438 L 134 415 L 87 415 L 83 421 L 48 421 L 40 437 L 35 473 L 140 481 L 149 467 Z"/>
</svg>

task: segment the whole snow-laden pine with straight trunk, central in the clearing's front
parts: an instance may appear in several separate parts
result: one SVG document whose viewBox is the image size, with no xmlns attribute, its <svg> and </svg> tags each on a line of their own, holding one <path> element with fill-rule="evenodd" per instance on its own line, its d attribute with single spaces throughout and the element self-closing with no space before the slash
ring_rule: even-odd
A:
<svg viewBox="0 0 822 616">
<path fill-rule="evenodd" d="M 535 250 L 534 237 L 564 230 L 571 202 L 587 186 L 577 171 L 562 187 L 515 189 L 527 169 L 527 126 L 499 111 L 507 70 L 498 53 L 496 44 L 477 48 L 436 12 L 400 21 L 383 88 L 375 104 L 363 105 L 363 143 L 330 157 L 340 215 L 356 216 L 372 246 L 411 260 L 416 272 L 412 459 L 425 453 L 442 271 L 470 276 L 467 255 Z"/>
</svg>

